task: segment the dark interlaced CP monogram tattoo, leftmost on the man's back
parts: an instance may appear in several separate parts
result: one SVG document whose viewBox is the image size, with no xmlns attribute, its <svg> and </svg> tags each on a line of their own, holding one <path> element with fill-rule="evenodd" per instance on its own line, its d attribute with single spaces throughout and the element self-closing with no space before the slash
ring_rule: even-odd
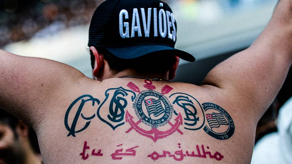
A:
<svg viewBox="0 0 292 164">
<path fill-rule="evenodd" d="M 71 127 L 69 126 L 68 124 L 68 117 L 69 117 L 69 114 L 71 112 L 71 109 L 78 103 L 80 102 L 79 104 L 79 107 L 77 109 L 77 112 L 75 114 L 75 117 L 73 119 L 73 122 L 71 124 Z M 83 110 L 83 107 L 84 105 L 87 103 L 87 102 L 92 102 L 92 106 L 95 105 L 95 103 L 99 104 L 100 101 L 96 98 L 93 98 L 93 96 L 90 96 L 90 95 L 83 95 L 83 96 L 80 96 L 78 97 L 76 100 L 74 100 L 71 105 L 68 107 L 67 111 L 66 111 L 66 114 L 65 114 L 65 127 L 66 129 L 69 131 L 69 134 L 67 136 L 70 136 L 72 135 L 73 137 L 76 137 L 75 133 L 79 133 L 83 130 L 85 130 L 89 124 L 90 124 L 90 121 L 91 119 L 93 119 L 95 117 L 95 114 L 93 114 L 91 117 L 85 117 L 81 112 Z M 94 113 L 94 112 L 93 112 Z M 84 120 L 88 120 L 85 124 L 85 126 L 79 130 L 76 130 L 76 125 L 78 123 L 78 119 L 80 118 L 80 115 L 81 115 L 81 118 L 83 118 Z"/>
</svg>

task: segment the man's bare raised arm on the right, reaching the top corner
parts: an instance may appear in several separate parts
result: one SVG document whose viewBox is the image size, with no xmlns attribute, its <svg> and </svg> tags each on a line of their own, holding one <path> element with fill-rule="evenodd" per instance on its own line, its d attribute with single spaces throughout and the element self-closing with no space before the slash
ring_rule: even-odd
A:
<svg viewBox="0 0 292 164">
<path fill-rule="evenodd" d="M 281 88 L 291 62 L 292 0 L 280 0 L 255 43 L 212 69 L 202 86 L 221 88 L 226 100 L 242 104 L 259 119 Z"/>
</svg>

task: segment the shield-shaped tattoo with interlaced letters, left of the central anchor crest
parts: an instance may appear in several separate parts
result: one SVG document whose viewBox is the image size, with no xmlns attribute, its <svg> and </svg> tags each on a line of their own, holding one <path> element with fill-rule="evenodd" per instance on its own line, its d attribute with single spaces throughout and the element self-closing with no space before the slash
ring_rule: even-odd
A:
<svg viewBox="0 0 292 164">
<path fill-rule="evenodd" d="M 115 130 L 115 128 L 125 124 L 125 108 L 128 105 L 126 97 L 131 96 L 131 101 L 133 102 L 136 98 L 136 94 L 132 90 L 119 87 L 106 90 L 105 96 L 105 100 L 98 107 L 97 116 L 101 121 Z M 110 101 L 107 101 L 108 99 L 110 99 Z"/>
</svg>

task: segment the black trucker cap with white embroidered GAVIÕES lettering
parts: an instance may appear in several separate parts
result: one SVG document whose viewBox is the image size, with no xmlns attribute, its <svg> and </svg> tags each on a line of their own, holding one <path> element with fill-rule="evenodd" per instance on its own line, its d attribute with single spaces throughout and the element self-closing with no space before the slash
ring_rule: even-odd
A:
<svg viewBox="0 0 292 164">
<path fill-rule="evenodd" d="M 167 51 L 194 62 L 193 55 L 174 48 L 176 41 L 177 24 L 166 3 L 159 0 L 106 0 L 91 19 L 88 46 L 105 48 L 123 59 Z"/>
</svg>

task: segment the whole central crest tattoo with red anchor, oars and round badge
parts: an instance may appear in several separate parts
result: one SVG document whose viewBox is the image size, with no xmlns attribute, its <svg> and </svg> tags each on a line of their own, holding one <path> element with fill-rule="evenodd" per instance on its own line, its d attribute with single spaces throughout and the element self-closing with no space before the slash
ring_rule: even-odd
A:
<svg viewBox="0 0 292 164">
<path fill-rule="evenodd" d="M 129 133 L 134 129 L 139 134 L 152 139 L 154 142 L 156 142 L 157 139 L 165 138 L 176 131 L 183 134 L 182 131 L 179 130 L 179 127 L 182 125 L 181 114 L 175 118 L 175 123 L 170 122 L 173 113 L 173 106 L 164 94 L 169 93 L 172 88 L 165 85 L 162 88 L 161 93 L 159 93 L 154 91 L 156 87 L 152 85 L 152 81 L 145 80 L 145 83 L 144 87 L 148 90 L 143 90 L 142 92 L 137 85 L 132 82 L 127 85 L 131 90 L 139 93 L 133 103 L 133 108 L 135 109 L 136 116 L 139 120 L 135 122 L 133 120 L 134 117 L 127 111 L 126 122 L 131 125 L 131 128 L 129 128 L 126 133 Z M 143 123 L 144 126 L 139 126 L 140 123 Z M 159 129 L 166 125 L 168 125 L 168 128 L 165 131 Z"/>
</svg>

